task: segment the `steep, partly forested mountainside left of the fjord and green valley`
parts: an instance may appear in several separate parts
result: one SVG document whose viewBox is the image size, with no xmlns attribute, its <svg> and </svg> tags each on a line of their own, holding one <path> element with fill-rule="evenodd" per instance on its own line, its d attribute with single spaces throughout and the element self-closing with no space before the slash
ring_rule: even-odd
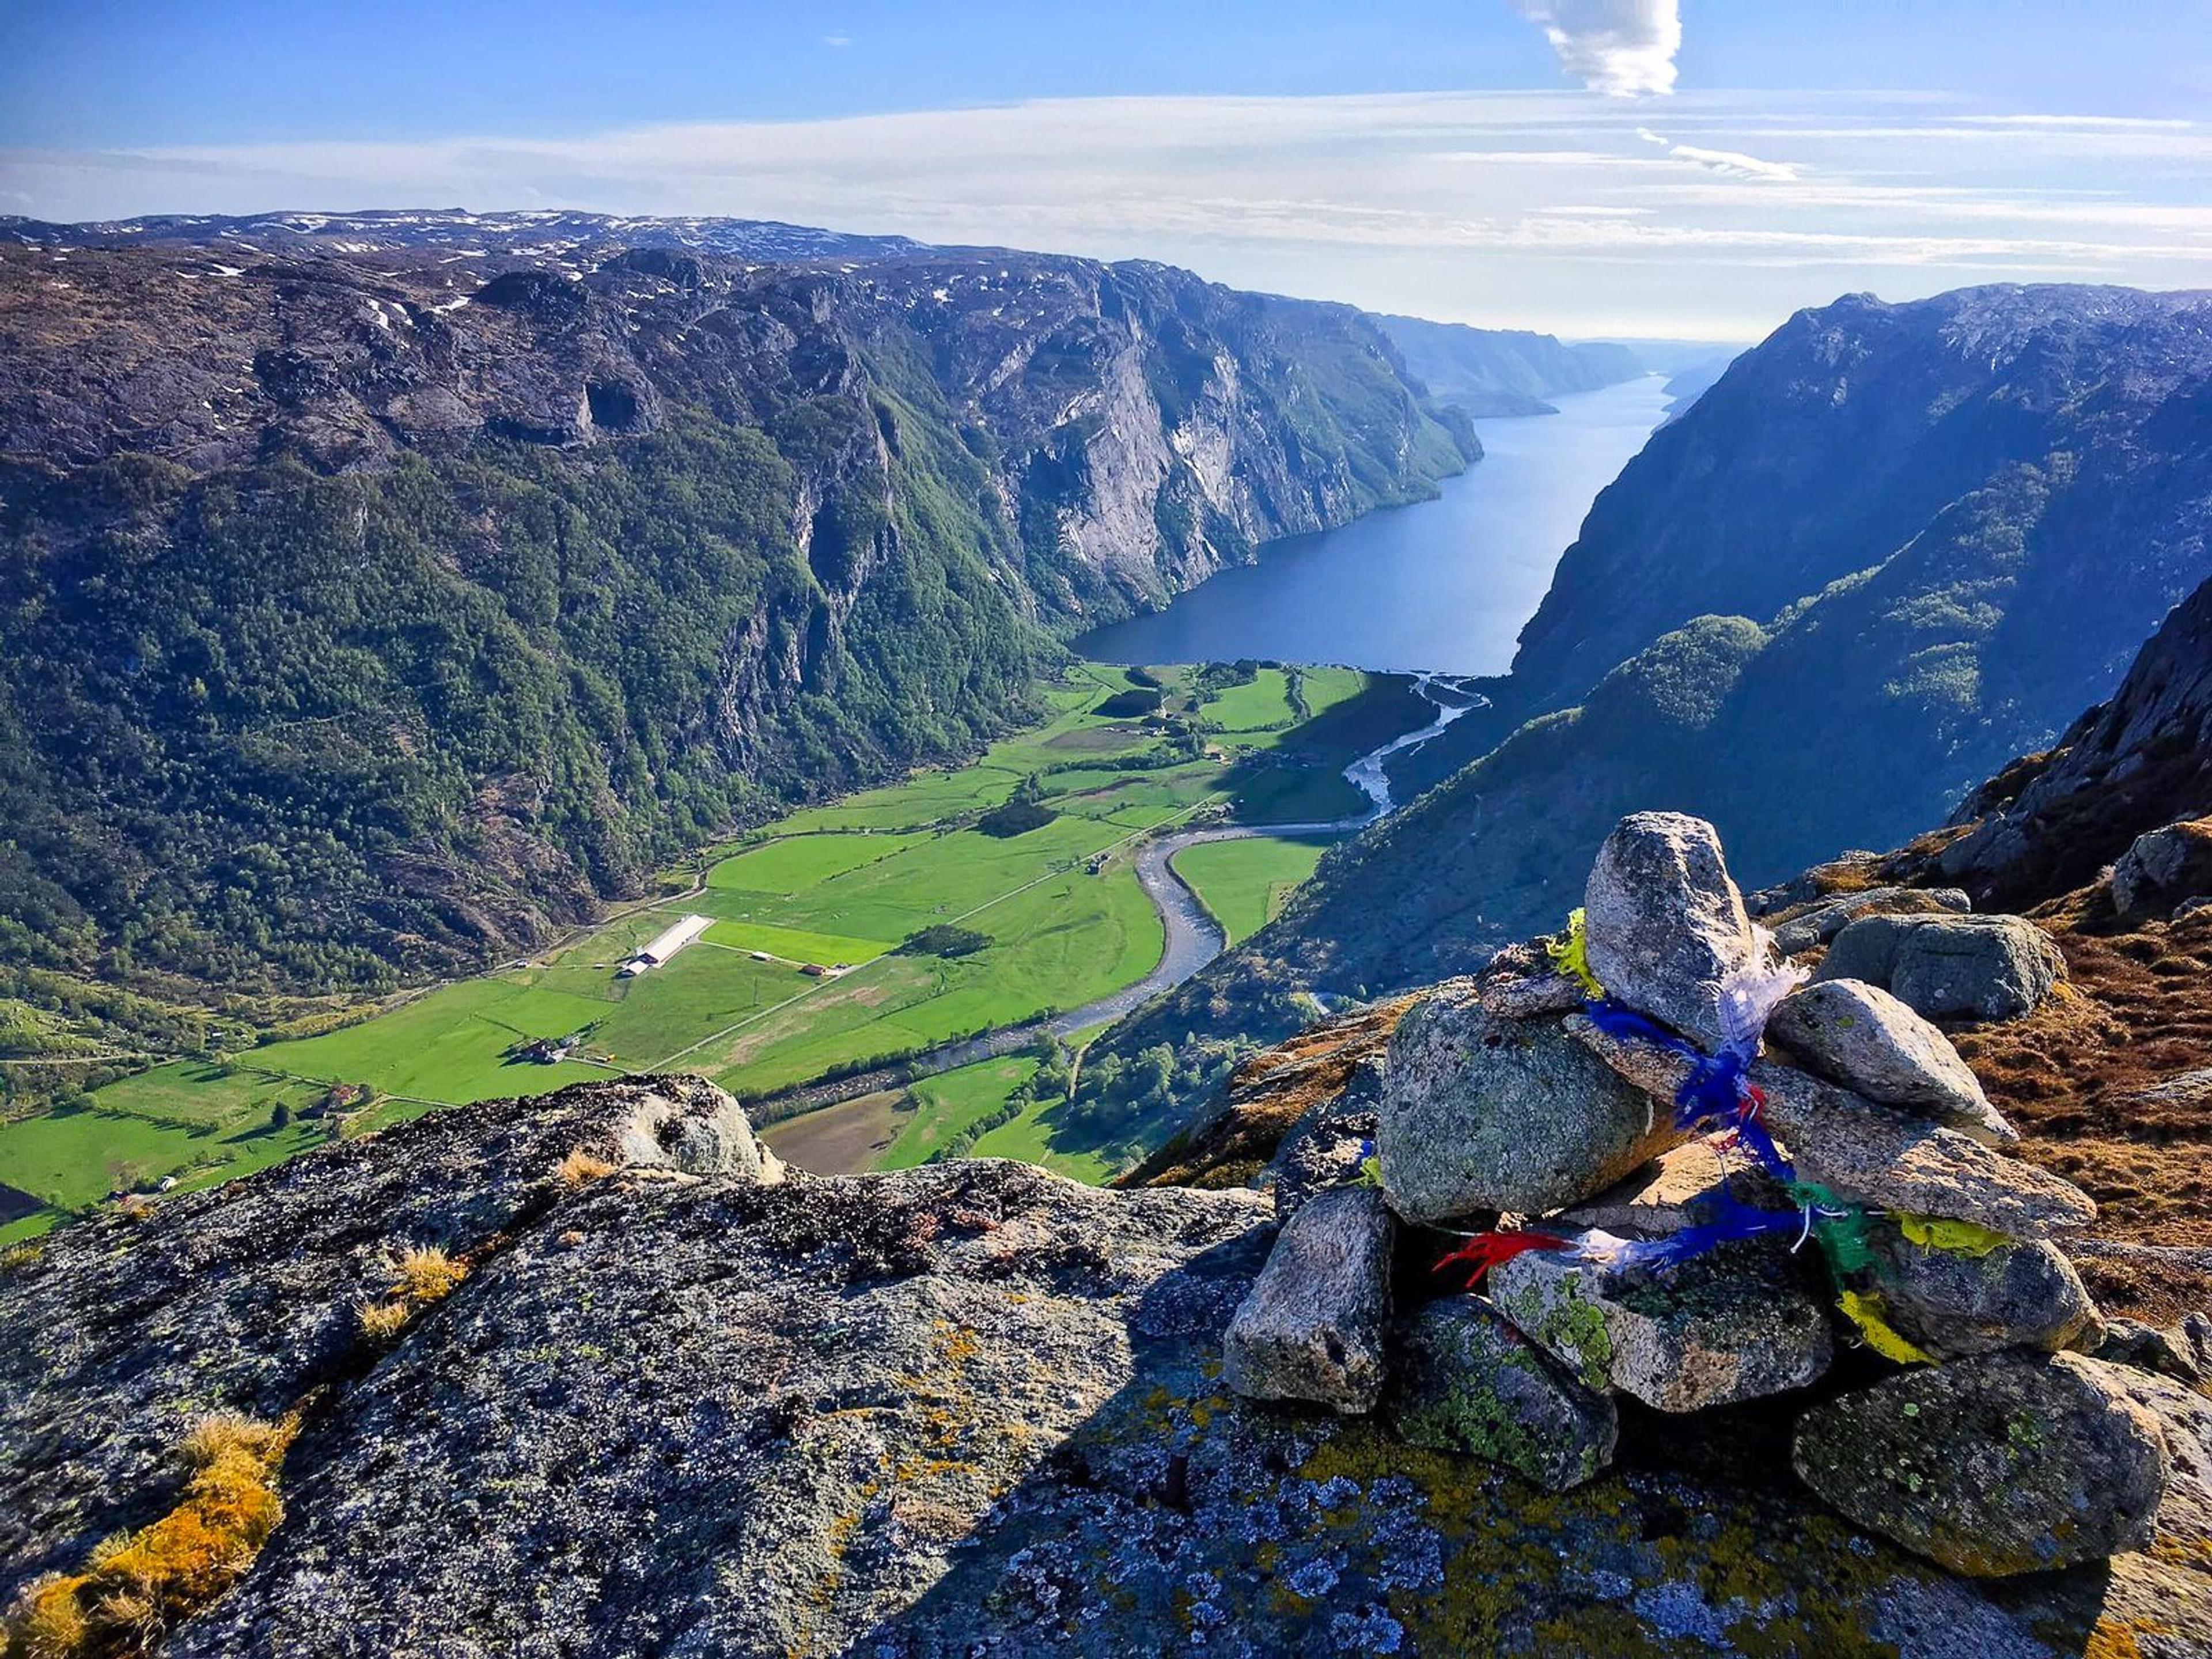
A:
<svg viewBox="0 0 2212 1659">
<path fill-rule="evenodd" d="M 13 232 L 0 907 L 46 969 L 482 960 L 971 748 L 1055 635 L 1475 453 L 1356 312 L 1157 265 L 586 217 Z"/>
</svg>

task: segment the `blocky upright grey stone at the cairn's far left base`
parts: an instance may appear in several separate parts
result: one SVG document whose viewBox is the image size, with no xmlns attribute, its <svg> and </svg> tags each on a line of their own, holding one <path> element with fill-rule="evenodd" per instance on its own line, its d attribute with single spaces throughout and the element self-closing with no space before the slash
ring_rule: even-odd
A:
<svg viewBox="0 0 2212 1659">
<path fill-rule="evenodd" d="M 1283 1223 L 1223 1338 L 1223 1378 L 1248 1400 L 1367 1411 L 1383 1389 L 1394 1221 L 1365 1186 L 1316 1192 Z"/>
</svg>

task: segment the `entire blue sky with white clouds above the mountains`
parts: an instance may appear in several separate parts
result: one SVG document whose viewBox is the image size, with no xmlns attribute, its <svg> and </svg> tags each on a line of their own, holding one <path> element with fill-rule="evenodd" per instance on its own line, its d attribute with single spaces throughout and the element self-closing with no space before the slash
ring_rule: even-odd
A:
<svg viewBox="0 0 2212 1659">
<path fill-rule="evenodd" d="M 0 0 L 0 210 L 728 212 L 1584 334 L 2208 285 L 2205 111 L 2208 0 Z"/>
</svg>

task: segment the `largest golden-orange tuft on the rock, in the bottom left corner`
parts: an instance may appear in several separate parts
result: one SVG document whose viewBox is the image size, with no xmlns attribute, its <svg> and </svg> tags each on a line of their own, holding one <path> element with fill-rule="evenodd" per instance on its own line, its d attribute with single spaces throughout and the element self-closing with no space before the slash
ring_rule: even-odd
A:
<svg viewBox="0 0 2212 1659">
<path fill-rule="evenodd" d="M 254 1564 L 283 1520 L 276 1469 L 299 1418 L 204 1418 L 179 1453 L 192 1471 L 177 1506 L 93 1551 L 84 1573 L 31 1584 L 7 1617 L 11 1659 L 153 1652 L 177 1624 Z"/>
</svg>

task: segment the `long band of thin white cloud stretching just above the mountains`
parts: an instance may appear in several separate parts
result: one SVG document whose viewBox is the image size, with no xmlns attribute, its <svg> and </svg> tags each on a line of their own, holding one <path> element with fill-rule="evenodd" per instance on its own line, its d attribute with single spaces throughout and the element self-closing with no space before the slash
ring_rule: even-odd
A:
<svg viewBox="0 0 2212 1659">
<path fill-rule="evenodd" d="M 564 206 L 1168 259 L 1391 312 L 1743 338 L 1847 290 L 2212 285 L 2212 126 L 1679 93 L 1062 100 L 577 137 L 0 153 L 49 219 Z M 1944 137 L 1960 142 L 1940 142 Z M 2117 161 L 2117 157 L 2121 157 Z"/>
</svg>

